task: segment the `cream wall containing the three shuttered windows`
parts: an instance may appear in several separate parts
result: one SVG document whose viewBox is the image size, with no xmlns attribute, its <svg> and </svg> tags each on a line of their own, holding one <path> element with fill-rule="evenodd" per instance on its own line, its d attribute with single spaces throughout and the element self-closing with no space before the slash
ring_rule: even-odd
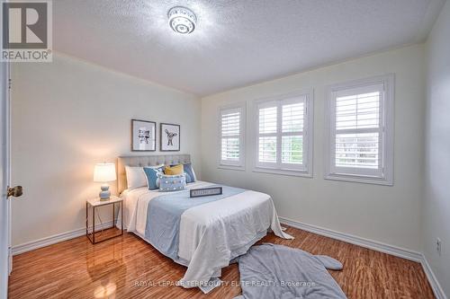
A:
<svg viewBox="0 0 450 299">
<path fill-rule="evenodd" d="M 273 196 L 280 216 L 421 251 L 419 209 L 423 185 L 424 62 L 424 46 L 416 45 L 203 98 L 202 179 L 266 192 Z M 396 76 L 394 186 L 324 180 L 326 86 L 388 73 Z M 249 103 L 311 87 L 315 97 L 313 179 L 252 172 L 250 162 L 255 154 L 249 146 L 247 171 L 217 168 L 217 110 L 220 105 Z M 247 128 L 252 122 L 249 113 L 247 109 Z M 247 133 L 249 145 L 251 133 L 248 130 Z"/>
</svg>

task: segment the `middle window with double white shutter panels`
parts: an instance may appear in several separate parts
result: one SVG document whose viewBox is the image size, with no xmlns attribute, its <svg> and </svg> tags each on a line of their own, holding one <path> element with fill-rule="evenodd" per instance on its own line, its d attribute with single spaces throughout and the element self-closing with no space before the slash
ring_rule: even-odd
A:
<svg viewBox="0 0 450 299">
<path fill-rule="evenodd" d="M 312 92 L 256 102 L 255 171 L 312 175 Z"/>
</svg>

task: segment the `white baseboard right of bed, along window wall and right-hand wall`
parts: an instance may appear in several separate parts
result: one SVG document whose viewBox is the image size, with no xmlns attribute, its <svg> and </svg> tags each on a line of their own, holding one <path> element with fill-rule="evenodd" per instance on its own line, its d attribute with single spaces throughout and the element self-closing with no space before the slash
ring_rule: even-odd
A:
<svg viewBox="0 0 450 299">
<path fill-rule="evenodd" d="M 383 242 L 376 242 L 373 240 L 361 238 L 348 233 L 339 233 L 336 231 L 329 230 L 328 228 L 323 228 L 311 224 L 303 224 L 301 222 L 284 217 L 279 218 L 281 224 L 293 226 L 303 231 L 320 234 L 332 239 L 355 244 L 374 251 L 381 251 L 403 259 L 410 259 L 413 261 L 417 261 L 422 265 L 425 275 L 428 278 L 428 282 L 431 288 L 433 289 L 433 293 L 435 294 L 437 299 L 447 299 L 446 294 L 444 294 L 444 290 L 437 281 L 437 277 L 433 273 L 433 270 L 429 267 L 428 260 L 425 259 L 425 256 L 422 253 L 419 253 L 417 251 L 410 251 L 397 246 L 392 246 L 389 244 L 385 244 Z"/>
</svg>

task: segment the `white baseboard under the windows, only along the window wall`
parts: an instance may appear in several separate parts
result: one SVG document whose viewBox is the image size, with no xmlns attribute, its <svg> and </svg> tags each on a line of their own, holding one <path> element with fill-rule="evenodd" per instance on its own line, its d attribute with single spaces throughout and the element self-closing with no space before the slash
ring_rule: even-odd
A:
<svg viewBox="0 0 450 299">
<path fill-rule="evenodd" d="M 410 259 L 413 261 L 421 262 L 422 254 L 417 251 L 410 251 L 401 247 L 392 246 L 389 244 L 385 244 L 383 242 L 376 242 L 373 240 L 365 239 L 358 237 L 356 235 L 348 234 L 348 233 L 339 233 L 336 231 L 329 230 L 328 228 L 323 228 L 320 226 L 315 226 L 311 224 L 303 224 L 301 222 L 279 217 L 280 223 L 293 226 L 295 228 L 299 228 L 303 231 L 307 231 L 310 233 L 317 233 L 332 239 L 336 239 L 339 241 L 355 244 L 361 247 L 365 247 L 374 251 L 381 251 L 384 253 L 392 254 L 393 256 L 400 257 L 403 259 Z"/>
</svg>

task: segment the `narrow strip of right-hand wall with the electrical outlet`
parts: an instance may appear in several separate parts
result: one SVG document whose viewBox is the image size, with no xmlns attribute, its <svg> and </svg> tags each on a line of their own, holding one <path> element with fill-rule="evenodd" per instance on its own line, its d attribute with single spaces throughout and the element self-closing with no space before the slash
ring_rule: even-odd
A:
<svg viewBox="0 0 450 299">
<path fill-rule="evenodd" d="M 450 297 L 450 2 L 428 37 L 424 254 Z M 436 239 L 442 253 L 436 251 Z"/>
</svg>

